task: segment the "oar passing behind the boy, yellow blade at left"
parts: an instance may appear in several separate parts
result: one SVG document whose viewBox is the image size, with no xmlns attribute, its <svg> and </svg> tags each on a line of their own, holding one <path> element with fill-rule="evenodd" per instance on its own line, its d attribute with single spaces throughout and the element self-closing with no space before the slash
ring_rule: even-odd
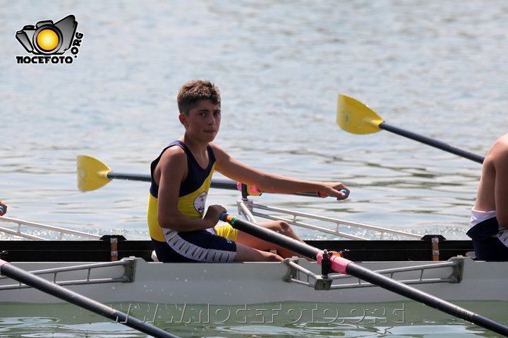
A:
<svg viewBox="0 0 508 338">
<path fill-rule="evenodd" d="M 91 190 L 99 189 L 100 187 L 108 184 L 113 179 L 121 180 L 134 180 L 150 182 L 152 179 L 150 175 L 143 174 L 126 174 L 114 173 L 111 168 L 102 161 L 97 160 L 91 156 L 80 155 L 77 159 L 77 173 L 78 173 L 78 189 L 82 192 L 89 192 Z M 213 179 L 210 187 L 217 189 L 241 190 L 241 183 L 234 180 L 226 179 Z M 340 190 L 342 193 L 347 194 L 346 190 Z M 249 195 L 260 195 L 262 192 L 256 187 L 246 186 L 246 192 Z M 316 192 L 295 192 L 294 195 L 300 196 L 313 196 L 318 197 Z M 330 196 L 339 199 L 345 199 L 347 196 Z"/>
</svg>

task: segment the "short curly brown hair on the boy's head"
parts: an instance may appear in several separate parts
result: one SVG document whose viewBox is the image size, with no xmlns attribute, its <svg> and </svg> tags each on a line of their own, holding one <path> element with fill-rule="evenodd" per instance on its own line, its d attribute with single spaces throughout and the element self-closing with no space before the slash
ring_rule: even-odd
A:
<svg viewBox="0 0 508 338">
<path fill-rule="evenodd" d="M 208 80 L 193 80 L 180 87 L 176 100 L 180 113 L 188 115 L 189 111 L 203 100 L 220 105 L 220 92 L 219 88 Z"/>
</svg>

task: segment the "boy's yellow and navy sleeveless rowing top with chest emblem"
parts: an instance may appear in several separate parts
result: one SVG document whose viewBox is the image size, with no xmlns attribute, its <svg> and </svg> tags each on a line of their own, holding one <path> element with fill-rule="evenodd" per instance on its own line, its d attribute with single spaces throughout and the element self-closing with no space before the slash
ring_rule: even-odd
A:
<svg viewBox="0 0 508 338">
<path fill-rule="evenodd" d="M 179 140 L 171 142 L 171 144 L 162 150 L 159 157 L 152 162 L 152 165 L 150 165 L 152 184 L 150 185 L 150 196 L 148 198 L 147 218 L 150 237 L 159 242 L 166 242 L 166 239 L 157 220 L 159 185 L 155 183 L 153 175 L 162 154 L 171 146 L 179 146 L 187 155 L 188 174 L 186 180 L 180 184 L 178 199 L 179 211 L 184 215 L 190 218 L 202 218 L 205 213 L 208 189 L 210 188 L 210 182 L 215 169 L 215 156 L 210 145 L 207 146 L 208 166 L 207 168 L 201 168 L 191 150 Z"/>
</svg>

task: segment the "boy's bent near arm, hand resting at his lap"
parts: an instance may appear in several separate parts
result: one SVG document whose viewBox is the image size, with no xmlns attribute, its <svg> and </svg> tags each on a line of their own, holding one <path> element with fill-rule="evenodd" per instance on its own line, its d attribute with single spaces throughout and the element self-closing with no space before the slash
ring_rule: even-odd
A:
<svg viewBox="0 0 508 338">
<path fill-rule="evenodd" d="M 155 168 L 154 179 L 159 181 L 158 215 L 161 227 L 176 231 L 193 231 L 214 227 L 221 213 L 222 206 L 210 206 L 204 218 L 190 218 L 178 208 L 180 184 L 187 175 L 187 156 L 178 146 L 164 151 Z"/>
</svg>

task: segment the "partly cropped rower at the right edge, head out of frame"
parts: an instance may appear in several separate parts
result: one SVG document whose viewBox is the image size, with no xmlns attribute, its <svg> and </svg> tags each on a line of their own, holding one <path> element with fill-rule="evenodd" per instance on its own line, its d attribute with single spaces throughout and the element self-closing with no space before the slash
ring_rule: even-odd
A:
<svg viewBox="0 0 508 338">
<path fill-rule="evenodd" d="M 508 134 L 485 156 L 471 226 L 467 234 L 478 260 L 508 261 Z"/>
</svg>

